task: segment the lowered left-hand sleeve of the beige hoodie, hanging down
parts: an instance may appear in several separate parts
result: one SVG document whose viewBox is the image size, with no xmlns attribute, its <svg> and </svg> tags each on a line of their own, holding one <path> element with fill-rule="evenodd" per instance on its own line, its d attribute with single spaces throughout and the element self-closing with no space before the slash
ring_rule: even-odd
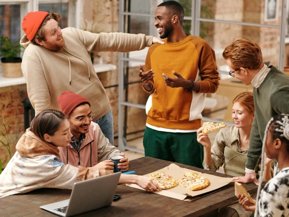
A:
<svg viewBox="0 0 289 217">
<path fill-rule="evenodd" d="M 30 48 L 28 47 L 27 50 Z M 40 112 L 50 108 L 49 88 L 43 67 L 39 60 L 28 57 L 26 52 L 24 52 L 21 70 L 25 77 L 29 100 L 35 108 L 35 115 L 38 115 Z"/>
</svg>

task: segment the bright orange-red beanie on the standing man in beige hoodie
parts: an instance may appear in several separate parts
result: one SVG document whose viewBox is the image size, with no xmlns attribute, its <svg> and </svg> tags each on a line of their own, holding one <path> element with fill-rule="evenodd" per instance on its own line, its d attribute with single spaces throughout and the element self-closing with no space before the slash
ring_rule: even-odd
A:
<svg viewBox="0 0 289 217">
<path fill-rule="evenodd" d="M 22 30 L 26 34 L 28 40 L 31 41 L 34 38 L 41 23 L 48 14 L 49 13 L 45 11 L 35 11 L 29 12 L 26 14 L 26 16 L 24 16 Z"/>
</svg>

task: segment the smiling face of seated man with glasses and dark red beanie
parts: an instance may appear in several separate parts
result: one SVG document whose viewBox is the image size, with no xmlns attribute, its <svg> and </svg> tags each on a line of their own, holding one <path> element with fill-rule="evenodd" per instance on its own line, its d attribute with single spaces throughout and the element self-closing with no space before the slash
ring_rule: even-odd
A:
<svg viewBox="0 0 289 217">
<path fill-rule="evenodd" d="M 74 120 L 73 118 L 79 119 L 82 117 L 88 117 L 89 115 L 91 115 L 91 113 L 92 112 L 89 104 L 79 105 L 78 107 L 74 108 L 74 110 L 70 114 L 70 117 L 72 118 L 68 118 L 70 122 L 70 131 L 74 135 L 74 137 L 78 138 L 80 133 L 84 134 L 89 132 L 89 127 L 92 120 L 89 118 L 85 118 L 85 121 L 83 122 Z"/>
</svg>

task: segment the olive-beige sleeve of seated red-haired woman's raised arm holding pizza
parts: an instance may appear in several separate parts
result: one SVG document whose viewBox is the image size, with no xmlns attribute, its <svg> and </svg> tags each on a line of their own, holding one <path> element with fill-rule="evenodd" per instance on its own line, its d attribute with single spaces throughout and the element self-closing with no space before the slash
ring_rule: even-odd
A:
<svg viewBox="0 0 289 217">
<path fill-rule="evenodd" d="M 221 129 L 215 138 L 214 144 L 211 148 L 211 155 L 213 162 L 211 165 L 205 163 L 205 169 L 215 171 L 224 164 L 224 148 L 225 148 L 225 138 L 223 129 Z"/>
</svg>

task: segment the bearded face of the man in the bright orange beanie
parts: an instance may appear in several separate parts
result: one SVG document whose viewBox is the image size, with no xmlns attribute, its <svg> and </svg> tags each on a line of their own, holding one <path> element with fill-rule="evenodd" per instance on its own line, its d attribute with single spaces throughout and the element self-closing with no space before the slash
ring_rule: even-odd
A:
<svg viewBox="0 0 289 217">
<path fill-rule="evenodd" d="M 48 50 L 60 51 L 64 46 L 64 39 L 62 37 L 61 29 L 58 22 L 54 19 L 50 19 L 43 27 L 45 41 L 37 42 Z"/>
</svg>

